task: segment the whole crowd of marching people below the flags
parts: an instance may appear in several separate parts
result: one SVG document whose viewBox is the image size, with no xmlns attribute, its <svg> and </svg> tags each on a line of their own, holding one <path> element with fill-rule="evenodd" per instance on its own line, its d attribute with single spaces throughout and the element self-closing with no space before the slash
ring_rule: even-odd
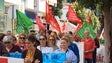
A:
<svg viewBox="0 0 112 63">
<path fill-rule="evenodd" d="M 99 38 L 90 37 L 89 30 L 84 32 L 85 38 L 80 39 L 76 33 L 56 33 L 41 29 L 38 33 L 31 30 L 28 35 L 22 33 L 14 36 L 11 31 L 0 33 L 0 56 L 13 57 L 20 54 L 25 63 L 43 63 L 42 53 L 66 53 L 64 63 L 79 63 L 80 54 L 77 42 L 84 43 L 84 59 L 86 63 L 96 63 L 96 48 Z"/>
</svg>

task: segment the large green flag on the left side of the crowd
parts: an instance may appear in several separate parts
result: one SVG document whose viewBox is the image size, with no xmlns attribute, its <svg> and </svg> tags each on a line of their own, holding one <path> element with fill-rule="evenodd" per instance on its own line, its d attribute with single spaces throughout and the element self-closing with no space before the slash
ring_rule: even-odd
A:
<svg viewBox="0 0 112 63">
<path fill-rule="evenodd" d="M 33 25 L 33 22 L 22 12 L 19 10 L 16 10 L 16 16 L 17 16 L 17 27 L 16 32 L 17 33 L 26 33 L 28 34 L 29 27 Z"/>
</svg>

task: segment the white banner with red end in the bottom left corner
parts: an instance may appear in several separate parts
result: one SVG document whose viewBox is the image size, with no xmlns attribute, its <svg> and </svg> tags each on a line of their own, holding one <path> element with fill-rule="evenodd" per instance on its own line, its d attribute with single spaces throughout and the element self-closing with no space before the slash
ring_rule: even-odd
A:
<svg viewBox="0 0 112 63">
<path fill-rule="evenodd" d="M 0 56 L 0 63 L 24 63 L 24 59 Z"/>
</svg>

